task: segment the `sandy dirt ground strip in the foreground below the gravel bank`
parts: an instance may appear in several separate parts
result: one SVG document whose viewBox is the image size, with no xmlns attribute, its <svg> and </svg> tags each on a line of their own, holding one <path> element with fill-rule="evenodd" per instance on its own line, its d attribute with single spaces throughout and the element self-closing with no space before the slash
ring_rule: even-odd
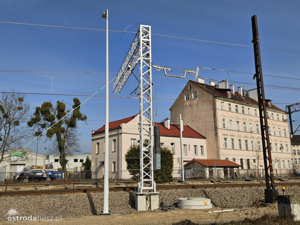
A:
<svg viewBox="0 0 300 225">
<path fill-rule="evenodd" d="M 180 209 L 177 211 L 158 211 L 158 212 L 144 212 L 137 214 L 127 215 L 110 215 L 110 216 L 88 216 L 80 218 L 62 218 L 62 221 L 26 221 L 26 224 L 64 224 L 64 225 L 172 225 L 182 220 L 191 220 L 194 223 L 210 224 L 231 222 L 232 220 L 244 220 L 248 217 L 251 219 L 261 217 L 264 214 L 278 214 L 277 203 L 268 207 L 249 207 L 249 208 L 234 208 L 237 211 L 223 212 L 223 213 L 209 213 L 207 209 L 194 209 L 186 210 Z M 221 210 L 220 208 L 209 209 L 211 211 Z M 26 215 L 27 216 L 27 215 Z M 57 216 L 57 215 L 55 215 Z M 1 222 L 1 225 L 5 224 L 19 224 L 20 221 L 5 221 Z"/>
</svg>

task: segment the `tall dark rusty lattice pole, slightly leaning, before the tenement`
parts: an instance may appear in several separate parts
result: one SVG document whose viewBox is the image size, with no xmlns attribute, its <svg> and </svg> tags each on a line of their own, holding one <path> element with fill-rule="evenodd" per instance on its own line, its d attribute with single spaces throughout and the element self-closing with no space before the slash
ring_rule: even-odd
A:
<svg viewBox="0 0 300 225">
<path fill-rule="evenodd" d="M 253 33 L 253 48 L 254 48 L 254 60 L 255 60 L 255 74 L 253 79 L 256 78 L 257 95 L 258 95 L 258 109 L 259 109 L 259 121 L 262 136 L 262 151 L 265 166 L 265 202 L 274 202 L 274 175 L 273 175 L 273 165 L 271 157 L 270 148 L 270 138 L 268 131 L 268 118 L 265 105 L 265 91 L 262 78 L 262 65 L 260 58 L 260 48 L 259 48 L 259 36 L 257 27 L 257 17 L 256 15 L 251 17 L 252 21 L 252 33 Z"/>
</svg>

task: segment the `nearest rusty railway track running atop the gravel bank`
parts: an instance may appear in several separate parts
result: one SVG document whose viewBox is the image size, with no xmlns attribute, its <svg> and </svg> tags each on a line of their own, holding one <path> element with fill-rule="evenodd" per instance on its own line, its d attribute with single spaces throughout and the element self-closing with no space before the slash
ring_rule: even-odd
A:
<svg viewBox="0 0 300 225">
<path fill-rule="evenodd" d="M 281 186 L 300 186 L 299 182 L 275 184 L 275 187 Z M 236 187 L 265 187 L 265 184 L 183 184 L 183 185 L 158 185 L 157 190 L 174 189 L 205 189 L 205 188 L 236 188 Z M 137 187 L 110 187 L 110 191 L 136 191 Z M 54 189 L 54 190 L 30 190 L 30 191 L 6 191 L 0 192 L 1 196 L 27 196 L 27 195 L 49 195 L 49 194 L 67 194 L 67 193 L 88 193 L 103 192 L 103 187 L 92 188 L 74 188 L 74 189 Z"/>
</svg>

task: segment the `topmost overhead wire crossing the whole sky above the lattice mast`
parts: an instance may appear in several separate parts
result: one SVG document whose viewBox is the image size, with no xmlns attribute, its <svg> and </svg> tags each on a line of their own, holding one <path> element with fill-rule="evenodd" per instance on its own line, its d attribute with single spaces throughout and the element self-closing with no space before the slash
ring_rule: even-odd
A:
<svg viewBox="0 0 300 225">
<path fill-rule="evenodd" d="M 44 24 L 33 24 L 33 23 L 17 23 L 17 22 L 5 22 L 5 21 L 0 21 L 2 23 L 13 23 L 13 24 L 23 24 L 23 25 L 34 25 L 34 26 L 48 26 L 48 27 L 60 27 L 60 28 L 72 28 L 72 29 L 83 29 L 83 30 L 96 30 L 96 31 L 106 31 L 104 29 L 92 29 L 92 28 L 82 28 L 82 27 L 68 27 L 68 26 L 53 26 L 53 25 L 44 25 Z M 133 31 L 117 31 L 117 30 L 109 30 L 112 32 L 122 32 L 122 33 L 136 33 Z M 243 46 L 243 47 L 253 47 L 250 45 L 242 45 L 242 44 L 232 44 L 232 43 L 226 43 L 226 42 L 218 42 L 218 41 L 206 41 L 206 40 L 200 40 L 200 39 L 193 39 L 193 38 L 182 38 L 182 37 L 176 37 L 176 36 L 170 36 L 170 35 L 160 35 L 160 34 L 152 34 L 152 35 L 157 35 L 161 37 L 168 37 L 168 38 L 179 38 L 179 39 L 184 39 L 184 40 L 191 40 L 191 41 L 202 41 L 202 42 L 209 42 L 209 43 L 216 43 L 216 44 L 227 44 L 227 45 L 234 45 L 234 46 Z M 265 48 L 265 47 L 260 47 L 262 49 L 270 49 L 270 50 L 277 50 L 277 51 L 285 51 L 285 52 L 297 52 L 300 53 L 300 51 L 295 51 L 295 50 L 286 50 L 286 49 L 275 49 L 275 48 Z"/>
</svg>

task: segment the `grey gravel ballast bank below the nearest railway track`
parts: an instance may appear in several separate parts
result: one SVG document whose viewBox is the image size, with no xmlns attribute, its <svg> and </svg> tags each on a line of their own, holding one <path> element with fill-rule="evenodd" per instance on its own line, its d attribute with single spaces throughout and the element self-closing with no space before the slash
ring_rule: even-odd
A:
<svg viewBox="0 0 300 225">
<path fill-rule="evenodd" d="M 178 198 L 205 197 L 211 199 L 215 207 L 245 207 L 264 199 L 264 187 L 253 188 L 215 188 L 160 190 L 159 202 L 172 205 Z M 281 193 L 281 188 L 276 188 Z M 286 195 L 300 198 L 300 187 L 286 187 Z M 135 210 L 135 193 L 110 192 L 109 210 L 112 214 L 138 213 Z M 81 217 L 101 214 L 103 193 L 71 193 L 40 196 L 0 197 L 0 221 L 7 220 L 7 210 L 16 208 L 22 216 L 61 216 Z M 124 212 L 117 212 L 124 211 Z"/>
</svg>

